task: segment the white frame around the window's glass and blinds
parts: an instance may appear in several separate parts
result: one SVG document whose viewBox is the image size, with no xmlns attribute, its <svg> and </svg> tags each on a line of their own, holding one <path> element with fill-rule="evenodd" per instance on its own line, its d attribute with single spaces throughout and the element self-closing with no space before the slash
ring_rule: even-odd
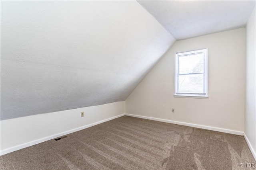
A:
<svg viewBox="0 0 256 170">
<path fill-rule="evenodd" d="M 194 53 L 205 53 L 204 57 L 204 93 L 178 93 L 178 57 L 179 55 L 189 55 Z M 186 52 L 177 52 L 174 57 L 174 97 L 188 97 L 188 98 L 208 98 L 208 48 L 191 50 Z"/>
</svg>

